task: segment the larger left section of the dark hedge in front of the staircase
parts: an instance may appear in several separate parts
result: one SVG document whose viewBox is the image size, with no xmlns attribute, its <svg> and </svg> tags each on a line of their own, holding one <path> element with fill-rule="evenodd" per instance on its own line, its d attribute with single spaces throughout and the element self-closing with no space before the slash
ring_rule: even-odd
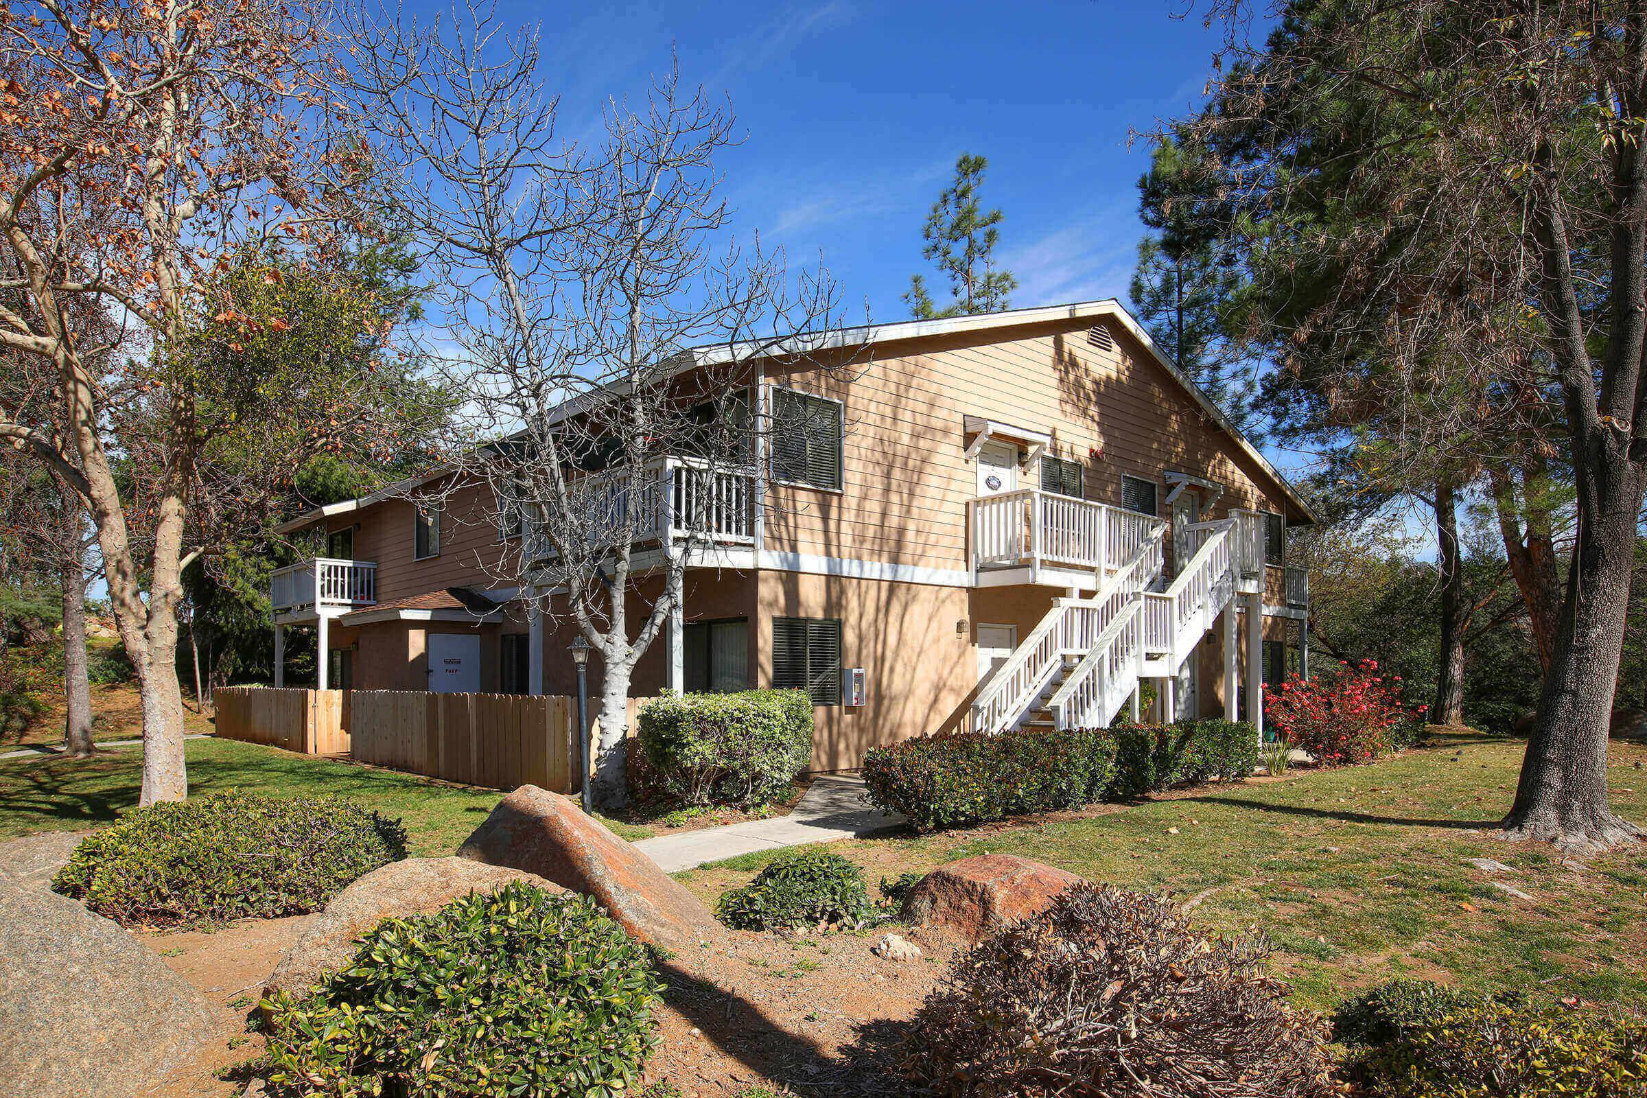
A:
<svg viewBox="0 0 1647 1098">
<path fill-rule="evenodd" d="M 863 782 L 870 803 L 937 830 L 1090 805 L 1113 764 L 1103 729 L 950 733 L 873 747 Z"/>
</svg>

